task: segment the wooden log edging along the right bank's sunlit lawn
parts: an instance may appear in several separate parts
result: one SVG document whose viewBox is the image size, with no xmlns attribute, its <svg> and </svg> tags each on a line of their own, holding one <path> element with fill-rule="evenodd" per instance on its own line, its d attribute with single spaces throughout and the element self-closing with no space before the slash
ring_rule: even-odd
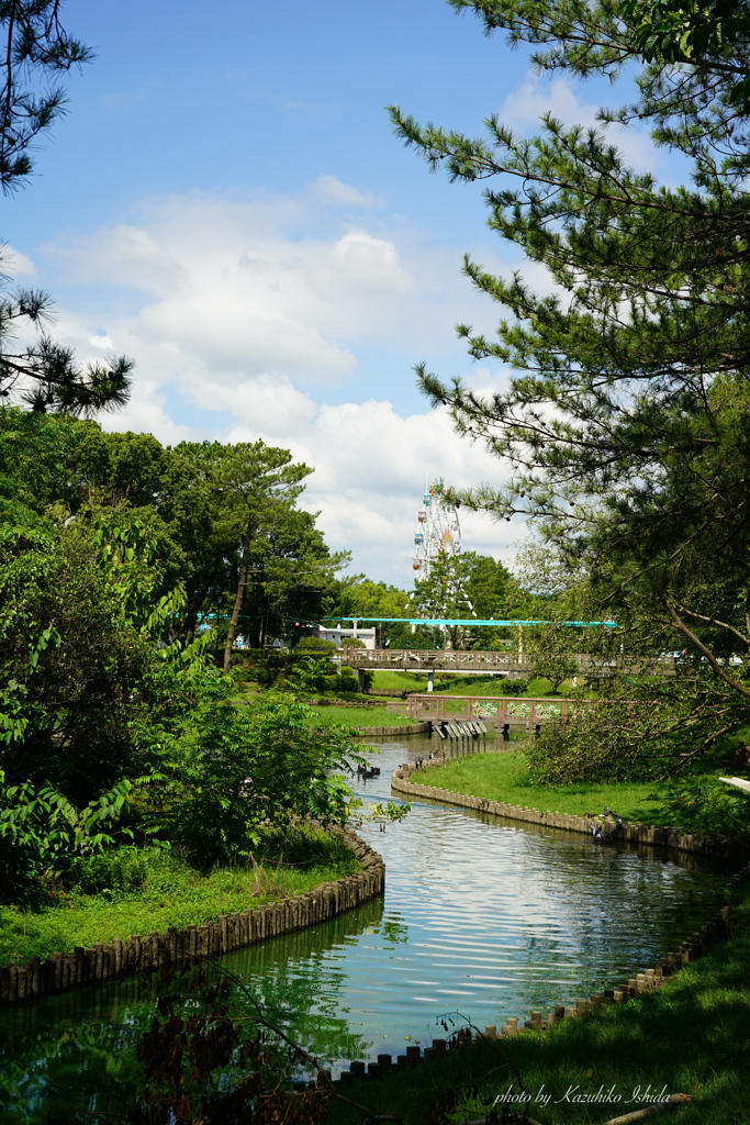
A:
<svg viewBox="0 0 750 1125">
<path fill-rule="evenodd" d="M 508 804 L 506 801 L 487 801 L 481 796 L 469 796 L 466 793 L 454 793 L 448 789 L 421 785 L 418 782 L 410 781 L 414 773 L 433 765 L 442 765 L 442 763 L 443 758 L 440 756 L 424 765 L 409 763 L 400 766 L 390 776 L 391 789 L 398 793 L 426 796 L 433 801 L 443 801 L 445 804 L 460 804 L 464 809 L 490 812 L 493 816 L 507 817 L 510 820 L 523 820 L 526 824 L 544 825 L 549 828 L 564 828 L 567 831 L 585 832 L 587 836 L 591 834 L 591 822 L 586 817 L 573 817 L 567 812 L 542 812 L 540 809 L 526 809 L 519 804 Z M 735 845 L 725 840 L 696 836 L 683 831 L 681 828 L 668 826 L 625 824 L 618 839 L 632 844 L 648 844 L 652 847 L 674 848 L 677 852 L 689 852 L 693 855 L 730 863 L 738 858 L 746 858 L 744 854 L 738 853 Z"/>
</svg>

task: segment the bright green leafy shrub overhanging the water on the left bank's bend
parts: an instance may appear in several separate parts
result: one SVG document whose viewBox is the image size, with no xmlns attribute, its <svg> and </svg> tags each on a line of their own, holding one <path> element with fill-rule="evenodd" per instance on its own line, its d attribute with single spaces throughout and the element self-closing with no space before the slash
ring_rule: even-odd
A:
<svg viewBox="0 0 750 1125">
<path fill-rule="evenodd" d="M 349 789 L 336 776 L 355 756 L 338 730 L 309 727 L 309 709 L 268 694 L 243 708 L 228 677 L 196 669 L 192 711 L 177 728 L 147 726 L 154 770 L 151 819 L 201 868 L 247 857 L 262 826 L 290 831 L 304 819 L 343 825 Z"/>
</svg>

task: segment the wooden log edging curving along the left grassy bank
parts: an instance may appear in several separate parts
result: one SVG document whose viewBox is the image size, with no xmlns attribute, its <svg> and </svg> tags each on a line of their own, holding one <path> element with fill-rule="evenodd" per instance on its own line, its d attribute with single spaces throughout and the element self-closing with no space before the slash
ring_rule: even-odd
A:
<svg viewBox="0 0 750 1125">
<path fill-rule="evenodd" d="M 153 930 L 146 937 L 134 934 L 129 939 L 115 938 L 72 953 L 53 953 L 43 961 L 30 957 L 24 964 L 11 961 L 0 969 L 0 1006 L 36 1000 L 56 992 L 69 992 L 88 984 L 119 980 L 136 973 L 179 968 L 255 945 L 270 937 L 291 934 L 322 921 L 328 921 L 345 910 L 382 893 L 386 865 L 363 839 L 352 831 L 344 838 L 362 870 L 344 875 L 333 883 L 320 883 L 305 894 L 293 894 L 242 914 L 219 915 L 204 926 L 187 926 L 165 933 Z"/>
</svg>

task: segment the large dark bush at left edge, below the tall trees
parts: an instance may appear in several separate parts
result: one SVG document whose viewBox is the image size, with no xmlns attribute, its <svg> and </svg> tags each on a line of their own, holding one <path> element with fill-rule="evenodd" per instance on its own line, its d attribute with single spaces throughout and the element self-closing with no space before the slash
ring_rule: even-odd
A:
<svg viewBox="0 0 750 1125">
<path fill-rule="evenodd" d="M 133 722 L 189 699 L 72 529 L 0 531 L 0 766 L 10 784 L 54 778 L 75 804 L 143 773 Z"/>
</svg>

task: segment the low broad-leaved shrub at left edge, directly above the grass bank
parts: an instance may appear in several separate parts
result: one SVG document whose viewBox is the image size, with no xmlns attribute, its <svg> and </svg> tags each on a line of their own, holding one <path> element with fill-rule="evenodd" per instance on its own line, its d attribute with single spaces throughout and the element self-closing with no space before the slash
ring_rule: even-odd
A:
<svg viewBox="0 0 750 1125">
<path fill-rule="evenodd" d="M 34 897 L 40 884 L 64 879 L 82 860 L 114 845 L 129 793 L 123 781 L 76 809 L 52 785 L 8 785 L 0 770 L 0 886 L 6 901 Z M 128 829 L 118 835 L 132 836 Z"/>
</svg>

